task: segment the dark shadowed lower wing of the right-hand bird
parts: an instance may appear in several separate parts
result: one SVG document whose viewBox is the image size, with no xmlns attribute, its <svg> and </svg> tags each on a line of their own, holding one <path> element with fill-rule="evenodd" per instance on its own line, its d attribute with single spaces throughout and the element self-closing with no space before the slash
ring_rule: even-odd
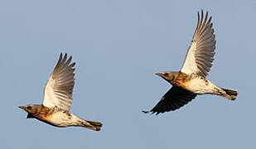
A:
<svg viewBox="0 0 256 149">
<path fill-rule="evenodd" d="M 171 89 L 162 97 L 157 105 L 150 111 L 142 111 L 143 113 L 165 113 L 174 111 L 181 108 L 186 103 L 189 103 L 192 99 L 196 98 L 196 94 L 191 93 L 186 89 L 182 89 L 176 85 L 172 86 Z"/>
</svg>

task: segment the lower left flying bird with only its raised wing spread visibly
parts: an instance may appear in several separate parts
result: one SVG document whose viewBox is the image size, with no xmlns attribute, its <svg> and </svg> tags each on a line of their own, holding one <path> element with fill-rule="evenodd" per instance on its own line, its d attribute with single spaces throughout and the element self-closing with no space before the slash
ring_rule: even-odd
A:
<svg viewBox="0 0 256 149">
<path fill-rule="evenodd" d="M 71 63 L 71 60 L 72 56 L 67 60 L 67 54 L 63 57 L 60 53 L 57 65 L 46 84 L 42 104 L 28 104 L 19 108 L 27 112 L 27 118 L 36 118 L 52 126 L 87 127 L 99 131 L 102 123 L 87 121 L 70 113 L 75 85 L 75 62 Z"/>
</svg>

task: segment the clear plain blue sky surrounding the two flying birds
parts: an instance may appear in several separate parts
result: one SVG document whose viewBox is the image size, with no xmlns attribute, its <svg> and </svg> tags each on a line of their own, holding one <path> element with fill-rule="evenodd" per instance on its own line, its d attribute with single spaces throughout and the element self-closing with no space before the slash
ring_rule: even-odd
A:
<svg viewBox="0 0 256 149">
<path fill-rule="evenodd" d="M 171 88 L 155 73 L 179 70 L 196 12 L 213 17 L 208 79 L 239 91 L 199 95 L 185 107 L 144 114 Z M 256 1 L 0 1 L 0 148 L 255 148 Z M 41 103 L 60 52 L 76 62 L 71 112 L 101 132 L 52 127 L 17 108 Z"/>
</svg>

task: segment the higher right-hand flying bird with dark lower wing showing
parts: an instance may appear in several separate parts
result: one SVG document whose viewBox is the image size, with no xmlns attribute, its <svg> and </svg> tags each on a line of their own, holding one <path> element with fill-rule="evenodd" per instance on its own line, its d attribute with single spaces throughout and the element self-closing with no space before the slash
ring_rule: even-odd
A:
<svg viewBox="0 0 256 149">
<path fill-rule="evenodd" d="M 208 19 L 208 12 L 205 18 L 203 11 L 201 14 L 197 12 L 197 16 L 196 31 L 181 70 L 157 73 L 172 85 L 171 89 L 164 94 L 152 110 L 142 111 L 143 113 L 159 114 L 174 111 L 191 102 L 197 94 L 216 94 L 227 99 L 236 99 L 237 91 L 223 89 L 206 79 L 213 65 L 216 41 L 211 17 Z"/>
</svg>

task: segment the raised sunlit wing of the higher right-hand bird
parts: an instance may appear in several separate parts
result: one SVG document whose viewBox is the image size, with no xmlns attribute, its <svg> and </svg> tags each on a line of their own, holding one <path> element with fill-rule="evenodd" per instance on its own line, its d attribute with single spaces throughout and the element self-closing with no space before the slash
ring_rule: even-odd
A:
<svg viewBox="0 0 256 149">
<path fill-rule="evenodd" d="M 186 53 L 186 60 L 181 72 L 186 74 L 200 74 L 206 76 L 215 55 L 215 34 L 212 28 L 211 17 L 207 20 L 208 12 L 204 19 L 204 13 L 198 14 L 196 31 L 191 42 L 191 46 Z"/>
</svg>

